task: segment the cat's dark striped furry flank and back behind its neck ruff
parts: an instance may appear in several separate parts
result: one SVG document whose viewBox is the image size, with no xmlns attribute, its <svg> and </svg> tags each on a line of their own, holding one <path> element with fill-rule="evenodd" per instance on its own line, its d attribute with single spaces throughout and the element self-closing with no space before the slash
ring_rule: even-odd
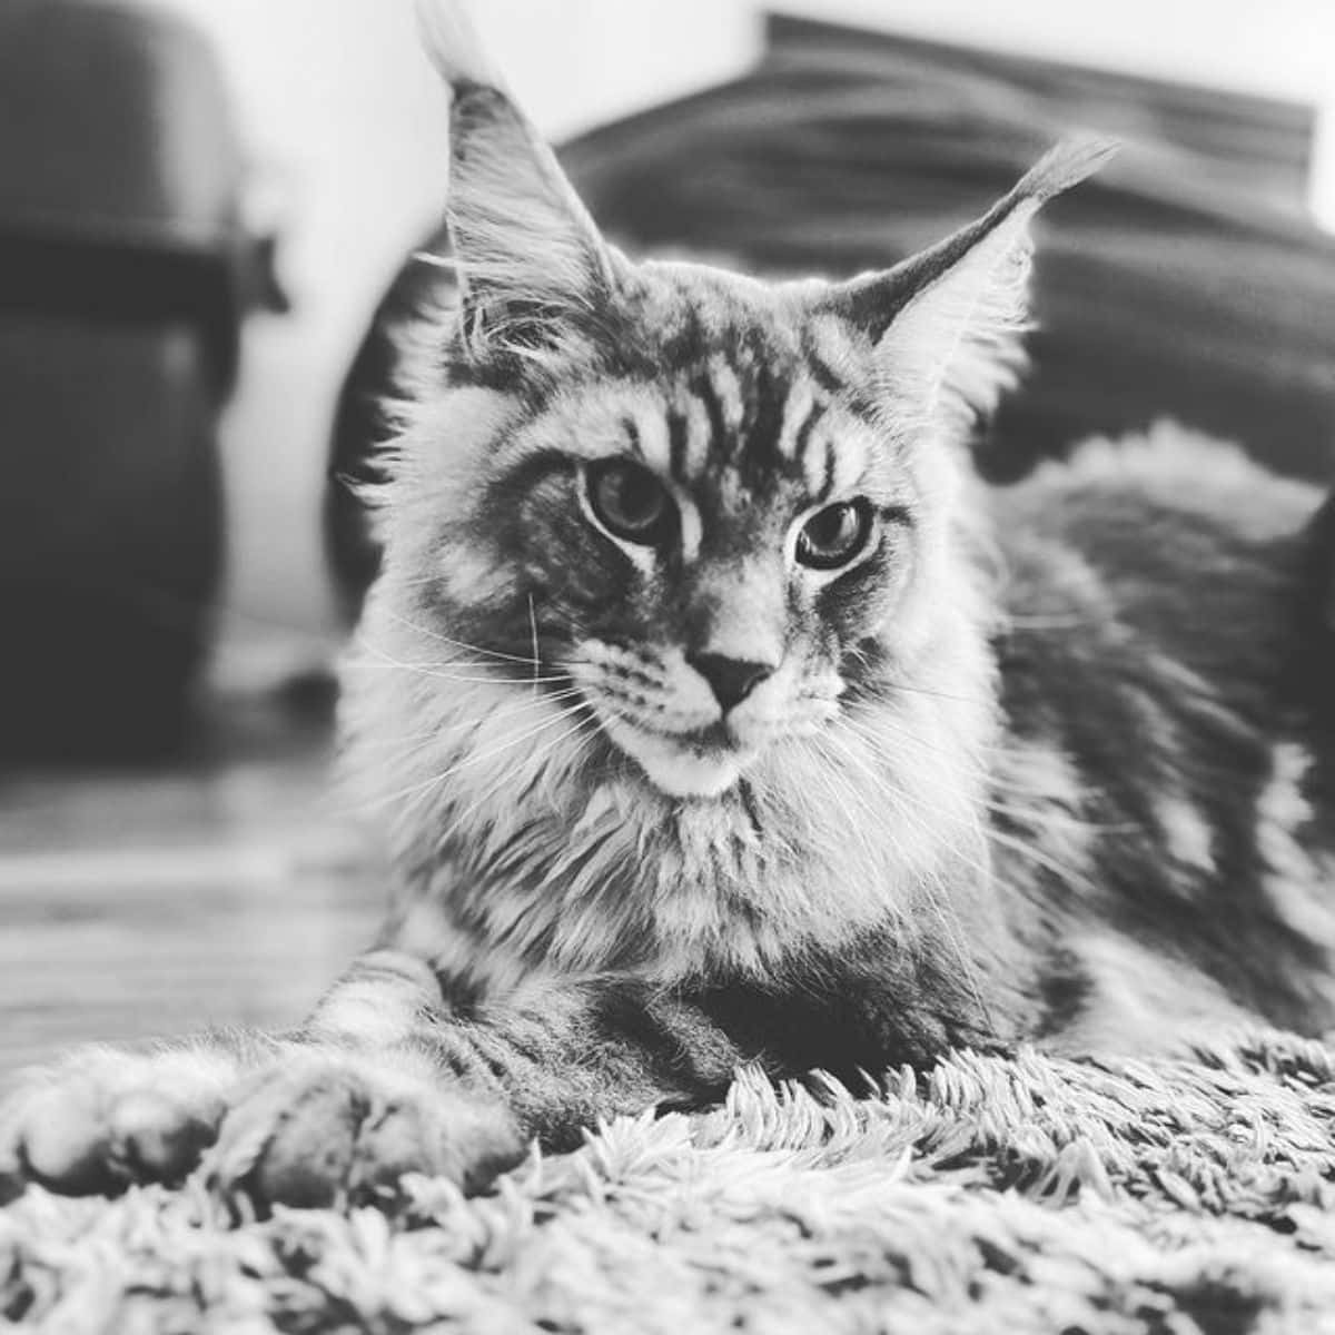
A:
<svg viewBox="0 0 1335 1335">
<path fill-rule="evenodd" d="M 1148 1051 L 1243 1015 L 1328 1027 L 1319 503 L 1171 425 L 996 494 L 997 872 L 1047 905 L 1048 1041 Z M 1032 804 L 1028 776 L 1065 796 Z"/>
</svg>

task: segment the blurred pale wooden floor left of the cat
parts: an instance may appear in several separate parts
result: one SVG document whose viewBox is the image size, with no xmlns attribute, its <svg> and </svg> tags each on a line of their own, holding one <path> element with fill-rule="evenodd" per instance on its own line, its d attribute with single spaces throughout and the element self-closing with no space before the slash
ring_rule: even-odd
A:
<svg viewBox="0 0 1335 1335">
<path fill-rule="evenodd" d="M 89 1039 L 295 1023 L 368 940 L 383 877 L 327 721 L 220 716 L 190 760 L 0 774 L 0 1076 Z"/>
</svg>

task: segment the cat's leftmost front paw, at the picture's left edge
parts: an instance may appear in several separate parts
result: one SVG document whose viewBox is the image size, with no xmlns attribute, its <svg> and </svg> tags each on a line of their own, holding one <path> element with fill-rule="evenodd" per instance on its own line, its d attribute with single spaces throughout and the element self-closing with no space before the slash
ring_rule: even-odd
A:
<svg viewBox="0 0 1335 1335">
<path fill-rule="evenodd" d="M 238 1079 L 222 1048 L 81 1048 L 0 1103 L 0 1202 L 36 1181 L 65 1195 L 176 1183 L 212 1144 Z"/>
</svg>

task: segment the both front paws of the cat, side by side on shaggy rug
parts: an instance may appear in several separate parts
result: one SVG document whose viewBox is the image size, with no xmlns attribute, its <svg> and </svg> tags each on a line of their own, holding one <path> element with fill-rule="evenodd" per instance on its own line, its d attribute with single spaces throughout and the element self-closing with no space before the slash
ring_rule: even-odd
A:
<svg viewBox="0 0 1335 1335">
<path fill-rule="evenodd" d="M 88 1048 L 23 1077 L 0 1104 L 0 1203 L 28 1183 L 76 1196 L 176 1184 L 207 1157 L 223 1195 L 334 1206 L 406 1172 L 475 1191 L 523 1157 L 503 1103 L 449 1088 L 414 1053 L 251 1048 Z"/>
</svg>

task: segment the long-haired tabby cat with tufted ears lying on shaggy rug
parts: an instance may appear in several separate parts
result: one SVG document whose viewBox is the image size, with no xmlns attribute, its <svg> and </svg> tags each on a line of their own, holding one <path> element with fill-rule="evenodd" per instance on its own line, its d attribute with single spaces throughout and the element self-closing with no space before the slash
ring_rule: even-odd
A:
<svg viewBox="0 0 1335 1335">
<path fill-rule="evenodd" d="M 76 1053 L 0 1180 L 264 1208 L 477 1189 L 534 1140 L 972 1047 L 1335 1011 L 1319 494 L 1171 425 L 989 489 L 1059 147 L 886 272 L 631 263 L 457 5 L 458 308 L 348 663 L 383 930 L 290 1035 Z"/>
</svg>

